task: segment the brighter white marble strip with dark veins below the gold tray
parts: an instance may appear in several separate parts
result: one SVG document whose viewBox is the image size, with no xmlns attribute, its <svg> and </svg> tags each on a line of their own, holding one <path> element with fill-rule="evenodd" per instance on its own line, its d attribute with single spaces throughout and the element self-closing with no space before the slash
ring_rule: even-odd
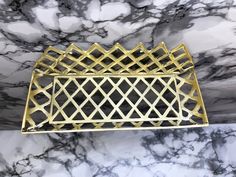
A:
<svg viewBox="0 0 236 177">
<path fill-rule="evenodd" d="M 0 132 L 1 177 L 235 177 L 236 124 L 21 135 Z"/>
</svg>

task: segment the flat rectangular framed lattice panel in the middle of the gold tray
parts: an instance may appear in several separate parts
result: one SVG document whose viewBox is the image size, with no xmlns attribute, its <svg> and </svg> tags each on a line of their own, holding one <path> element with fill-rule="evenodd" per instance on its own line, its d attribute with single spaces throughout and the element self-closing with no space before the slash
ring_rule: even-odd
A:
<svg viewBox="0 0 236 177">
<path fill-rule="evenodd" d="M 180 108 L 175 83 L 170 76 L 57 76 L 50 122 L 178 120 Z"/>
</svg>

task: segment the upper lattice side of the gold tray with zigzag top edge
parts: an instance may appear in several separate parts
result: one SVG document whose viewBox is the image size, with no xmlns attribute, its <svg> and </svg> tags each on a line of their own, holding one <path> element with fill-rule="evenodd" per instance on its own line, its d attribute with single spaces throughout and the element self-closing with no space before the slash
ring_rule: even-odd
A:
<svg viewBox="0 0 236 177">
<path fill-rule="evenodd" d="M 181 52 L 181 51 L 178 51 Z M 152 50 L 143 44 L 132 50 L 116 44 L 106 51 L 99 44 L 92 45 L 87 51 L 70 45 L 65 52 L 50 47 L 36 63 L 37 71 L 44 74 L 121 74 L 121 73 L 175 73 L 192 66 L 192 61 L 183 52 L 173 58 L 164 43 Z"/>
</svg>

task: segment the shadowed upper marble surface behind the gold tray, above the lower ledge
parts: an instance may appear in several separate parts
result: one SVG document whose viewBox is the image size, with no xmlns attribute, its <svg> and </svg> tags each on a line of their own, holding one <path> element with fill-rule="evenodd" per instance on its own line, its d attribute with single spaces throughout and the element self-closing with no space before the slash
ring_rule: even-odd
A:
<svg viewBox="0 0 236 177">
<path fill-rule="evenodd" d="M 0 1 L 0 129 L 19 129 L 33 63 L 48 45 L 127 49 L 185 43 L 210 123 L 236 122 L 236 3 L 232 0 Z"/>
</svg>

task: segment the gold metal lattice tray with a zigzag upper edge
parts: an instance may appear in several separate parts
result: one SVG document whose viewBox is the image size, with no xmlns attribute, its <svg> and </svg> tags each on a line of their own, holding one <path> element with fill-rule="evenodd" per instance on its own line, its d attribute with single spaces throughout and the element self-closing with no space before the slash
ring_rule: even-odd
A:
<svg viewBox="0 0 236 177">
<path fill-rule="evenodd" d="M 87 51 L 49 47 L 36 61 L 22 133 L 162 129 L 208 125 L 192 58 L 119 43 Z"/>
</svg>

